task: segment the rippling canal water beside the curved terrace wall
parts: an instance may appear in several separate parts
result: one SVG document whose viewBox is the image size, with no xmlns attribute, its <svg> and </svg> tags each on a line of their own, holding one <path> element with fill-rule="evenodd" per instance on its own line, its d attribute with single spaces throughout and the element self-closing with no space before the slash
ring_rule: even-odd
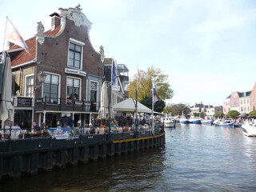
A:
<svg viewBox="0 0 256 192">
<path fill-rule="evenodd" d="M 178 124 L 161 149 L 2 181 L 0 191 L 256 191 L 256 138 L 241 128 Z"/>
</svg>

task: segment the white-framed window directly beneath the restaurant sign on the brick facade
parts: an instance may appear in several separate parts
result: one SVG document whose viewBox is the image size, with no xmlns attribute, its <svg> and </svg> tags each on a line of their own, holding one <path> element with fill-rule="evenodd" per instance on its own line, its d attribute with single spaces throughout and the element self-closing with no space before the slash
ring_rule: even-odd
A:
<svg viewBox="0 0 256 192">
<path fill-rule="evenodd" d="M 67 86 L 66 87 L 67 98 L 75 98 L 76 100 L 80 100 L 81 79 L 67 78 L 66 86 Z"/>
</svg>

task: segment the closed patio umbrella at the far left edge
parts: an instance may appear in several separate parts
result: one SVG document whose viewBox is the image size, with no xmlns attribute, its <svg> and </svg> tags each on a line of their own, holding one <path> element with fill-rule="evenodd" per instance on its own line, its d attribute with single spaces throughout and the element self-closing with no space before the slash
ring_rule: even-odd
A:
<svg viewBox="0 0 256 192">
<path fill-rule="evenodd" d="M 11 101 L 11 85 L 12 85 L 12 72 L 10 69 L 10 56 L 6 52 L 2 53 L 2 73 L 1 73 L 1 100 L 0 100 L 0 120 L 13 121 L 13 105 Z"/>
</svg>

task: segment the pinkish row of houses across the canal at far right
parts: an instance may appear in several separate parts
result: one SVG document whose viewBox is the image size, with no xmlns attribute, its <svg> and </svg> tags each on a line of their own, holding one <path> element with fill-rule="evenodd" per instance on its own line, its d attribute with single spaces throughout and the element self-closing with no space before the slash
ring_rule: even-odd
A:
<svg viewBox="0 0 256 192">
<path fill-rule="evenodd" d="M 246 92 L 234 91 L 223 102 L 223 114 L 237 110 L 240 114 L 249 114 L 256 110 L 256 82 L 253 89 Z"/>
</svg>

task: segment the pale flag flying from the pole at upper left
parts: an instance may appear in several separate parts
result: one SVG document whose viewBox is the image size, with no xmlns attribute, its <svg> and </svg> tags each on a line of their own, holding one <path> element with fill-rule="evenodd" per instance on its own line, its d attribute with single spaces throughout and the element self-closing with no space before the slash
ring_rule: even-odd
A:
<svg viewBox="0 0 256 192">
<path fill-rule="evenodd" d="M 10 22 L 9 18 L 6 18 L 6 40 L 17 46 L 21 46 L 28 53 L 29 47 L 26 45 L 22 36 L 18 33 L 18 30 L 16 30 L 13 23 Z"/>
</svg>

